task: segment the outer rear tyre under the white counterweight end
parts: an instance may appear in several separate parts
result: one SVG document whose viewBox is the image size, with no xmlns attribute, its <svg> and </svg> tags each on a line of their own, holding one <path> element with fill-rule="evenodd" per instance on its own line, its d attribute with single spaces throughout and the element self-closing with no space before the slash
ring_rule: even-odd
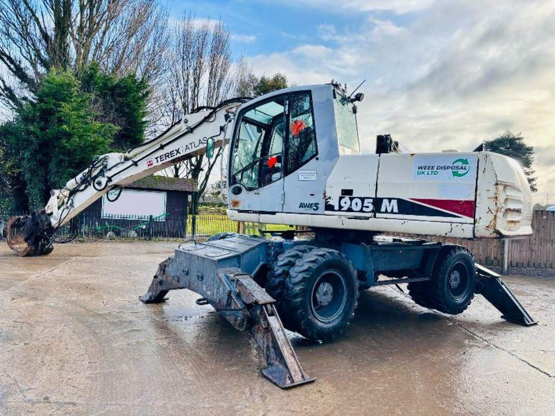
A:
<svg viewBox="0 0 555 416">
<path fill-rule="evenodd" d="M 456 315 L 474 298 L 476 265 L 466 247 L 450 246 L 440 251 L 433 266 L 428 296 L 433 309 Z"/>
</svg>

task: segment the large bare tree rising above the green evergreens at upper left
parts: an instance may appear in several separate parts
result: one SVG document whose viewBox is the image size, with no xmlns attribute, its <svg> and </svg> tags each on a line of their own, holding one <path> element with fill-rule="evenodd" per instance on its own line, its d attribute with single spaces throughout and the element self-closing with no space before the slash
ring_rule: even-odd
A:
<svg viewBox="0 0 555 416">
<path fill-rule="evenodd" d="M 163 74 L 168 13 L 157 0 L 0 0 L 0 98 L 12 108 L 51 68 Z"/>
</svg>

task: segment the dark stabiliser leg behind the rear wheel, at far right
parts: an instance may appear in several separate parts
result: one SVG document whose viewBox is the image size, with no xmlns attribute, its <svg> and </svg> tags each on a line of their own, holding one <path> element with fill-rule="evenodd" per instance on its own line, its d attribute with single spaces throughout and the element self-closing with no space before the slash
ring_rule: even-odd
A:
<svg viewBox="0 0 555 416">
<path fill-rule="evenodd" d="M 502 313 L 503 319 L 523 326 L 538 323 L 518 302 L 517 297 L 496 272 L 477 264 L 476 277 L 476 293 L 480 293 L 495 306 Z"/>
</svg>

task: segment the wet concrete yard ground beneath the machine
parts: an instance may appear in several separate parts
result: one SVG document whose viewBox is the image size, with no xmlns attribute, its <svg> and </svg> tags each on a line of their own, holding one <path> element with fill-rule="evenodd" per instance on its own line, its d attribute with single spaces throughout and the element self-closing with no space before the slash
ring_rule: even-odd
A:
<svg viewBox="0 0 555 416">
<path fill-rule="evenodd" d="M 248 334 L 198 295 L 138 301 L 173 246 L 19 258 L 0 242 L 0 414 L 555 414 L 553 278 L 506 278 L 539 320 L 528 328 L 480 296 L 447 317 L 395 287 L 362 293 L 339 341 L 290 334 L 317 380 L 281 390 Z"/>
</svg>

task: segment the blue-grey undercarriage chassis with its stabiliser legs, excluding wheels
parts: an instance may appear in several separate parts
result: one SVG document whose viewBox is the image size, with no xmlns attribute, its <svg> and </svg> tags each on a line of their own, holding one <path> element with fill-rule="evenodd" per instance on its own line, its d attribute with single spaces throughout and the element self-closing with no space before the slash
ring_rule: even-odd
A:
<svg viewBox="0 0 555 416">
<path fill-rule="evenodd" d="M 300 244 L 341 250 L 359 276 L 366 279 L 367 286 L 428 280 L 442 247 L 397 238 L 374 245 L 354 245 L 232 236 L 176 248 L 173 256 L 160 263 L 147 293 L 139 299 L 157 303 L 163 302 L 170 290 L 186 288 L 196 292 L 202 297 L 197 303 L 210 303 L 235 328 L 253 336 L 268 365 L 262 373 L 270 381 L 281 388 L 312 382 L 314 378 L 303 371 L 286 336 L 274 298 L 255 281 L 263 284 L 261 271 L 269 270 L 280 253 Z M 397 270 L 391 265 L 396 265 Z M 384 267 L 387 270 L 381 270 Z M 413 270 L 412 277 L 399 277 L 408 270 Z M 380 273 L 392 278 L 375 279 Z M 536 323 L 496 273 L 477 265 L 476 279 L 475 292 L 501 311 L 504 319 L 525 326 Z"/>
</svg>

